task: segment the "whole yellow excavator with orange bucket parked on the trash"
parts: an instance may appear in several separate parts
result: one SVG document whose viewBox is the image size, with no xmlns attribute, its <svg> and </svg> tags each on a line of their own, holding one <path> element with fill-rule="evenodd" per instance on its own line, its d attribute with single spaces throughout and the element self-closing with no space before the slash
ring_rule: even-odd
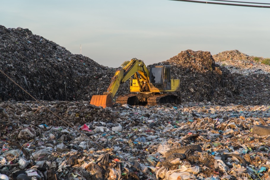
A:
<svg viewBox="0 0 270 180">
<path fill-rule="evenodd" d="M 134 79 L 131 78 L 134 75 Z M 123 69 L 118 69 L 112 77 L 107 92 L 93 95 L 90 104 L 112 107 L 119 86 L 130 78 L 131 94 L 119 96 L 116 103 L 138 105 L 157 103 L 180 104 L 180 97 L 172 92 L 180 91 L 180 80 L 171 79 L 170 66 L 150 66 L 150 72 L 142 60 L 133 58 Z"/>
</svg>

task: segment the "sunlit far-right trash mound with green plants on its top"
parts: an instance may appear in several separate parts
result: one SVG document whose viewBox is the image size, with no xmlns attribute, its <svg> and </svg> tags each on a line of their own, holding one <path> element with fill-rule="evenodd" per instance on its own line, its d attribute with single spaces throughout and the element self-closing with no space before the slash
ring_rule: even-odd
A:
<svg viewBox="0 0 270 180">
<path fill-rule="evenodd" d="M 226 59 L 227 56 L 234 58 Z M 239 95 L 235 96 L 235 104 L 269 104 L 266 97 L 270 88 L 270 66 L 261 63 L 263 58 L 255 61 L 253 56 L 238 50 L 224 51 L 213 58 L 217 64 L 233 74 L 234 81 L 238 84 Z"/>
</svg>

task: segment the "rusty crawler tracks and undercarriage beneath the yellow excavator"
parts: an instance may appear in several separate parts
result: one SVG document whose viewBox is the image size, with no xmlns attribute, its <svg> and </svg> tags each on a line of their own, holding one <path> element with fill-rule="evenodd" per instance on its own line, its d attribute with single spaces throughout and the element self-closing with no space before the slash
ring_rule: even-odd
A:
<svg viewBox="0 0 270 180">
<path fill-rule="evenodd" d="M 128 94 L 119 96 L 116 103 L 129 104 L 131 106 L 138 104 L 157 105 L 158 103 L 175 103 L 180 104 L 180 98 L 177 95 L 171 94 L 154 94 L 154 93 L 141 93 L 141 94 Z"/>
</svg>

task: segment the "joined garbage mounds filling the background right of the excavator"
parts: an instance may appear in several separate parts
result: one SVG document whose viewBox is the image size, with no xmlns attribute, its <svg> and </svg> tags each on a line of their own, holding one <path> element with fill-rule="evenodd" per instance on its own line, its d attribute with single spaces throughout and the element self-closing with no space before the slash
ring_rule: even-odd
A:
<svg viewBox="0 0 270 180">
<path fill-rule="evenodd" d="M 232 55 L 231 55 L 231 54 Z M 223 55 L 237 59 L 218 61 Z M 217 58 L 219 56 L 219 58 Z M 186 50 L 167 61 L 154 65 L 171 65 L 172 78 L 180 79 L 183 102 L 268 105 L 270 66 L 253 61 L 253 56 L 238 50 L 214 55 L 210 52 Z M 244 59 L 244 57 L 247 57 Z M 250 58 L 248 58 L 250 57 Z M 251 58 L 252 57 L 252 58 Z"/>
</svg>

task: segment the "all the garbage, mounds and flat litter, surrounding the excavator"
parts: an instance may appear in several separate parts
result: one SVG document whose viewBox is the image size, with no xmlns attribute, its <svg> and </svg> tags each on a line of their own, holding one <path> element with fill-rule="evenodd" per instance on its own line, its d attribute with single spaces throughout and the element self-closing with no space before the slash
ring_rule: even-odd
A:
<svg viewBox="0 0 270 180">
<path fill-rule="evenodd" d="M 0 26 L 0 179 L 270 179 L 269 65 L 185 50 L 181 104 L 89 104 L 117 68 Z M 146 60 L 144 60 L 146 62 Z M 118 95 L 129 93 L 129 82 Z"/>
</svg>

